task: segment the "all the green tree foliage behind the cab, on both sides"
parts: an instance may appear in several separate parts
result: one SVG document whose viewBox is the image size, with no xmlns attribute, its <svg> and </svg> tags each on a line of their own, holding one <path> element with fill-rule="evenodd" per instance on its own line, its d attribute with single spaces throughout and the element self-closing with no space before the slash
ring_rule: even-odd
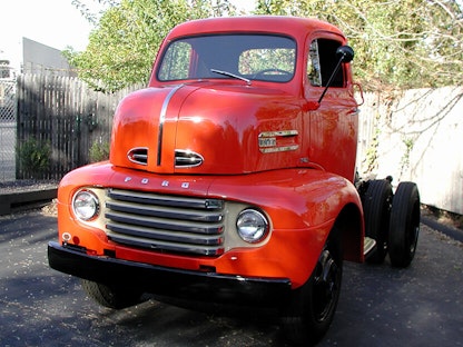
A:
<svg viewBox="0 0 463 347">
<path fill-rule="evenodd" d="M 83 52 L 66 51 L 79 77 L 98 90 L 146 83 L 162 38 L 176 24 L 234 14 L 228 0 L 98 0 L 109 9 Z M 366 90 L 460 85 L 463 12 L 456 0 L 258 0 L 257 14 L 316 17 L 339 27 L 356 51 L 354 71 Z"/>
</svg>

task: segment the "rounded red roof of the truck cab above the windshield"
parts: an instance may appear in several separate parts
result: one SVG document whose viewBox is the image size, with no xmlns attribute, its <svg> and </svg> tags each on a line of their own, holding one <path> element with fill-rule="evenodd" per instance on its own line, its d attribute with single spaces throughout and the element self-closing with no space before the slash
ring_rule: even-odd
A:
<svg viewBox="0 0 463 347">
<path fill-rule="evenodd" d="M 307 32 L 329 31 L 344 38 L 335 26 L 314 18 L 286 16 L 244 16 L 198 19 L 175 27 L 168 34 L 169 39 L 191 34 L 220 32 L 262 32 L 283 33 L 295 38 L 305 38 Z"/>
</svg>

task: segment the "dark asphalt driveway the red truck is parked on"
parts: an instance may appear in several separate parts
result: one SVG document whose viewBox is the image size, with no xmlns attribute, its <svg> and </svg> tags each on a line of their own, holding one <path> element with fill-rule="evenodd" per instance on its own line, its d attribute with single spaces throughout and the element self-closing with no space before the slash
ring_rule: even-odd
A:
<svg viewBox="0 0 463 347">
<path fill-rule="evenodd" d="M 0 218 L 0 346 L 285 346 L 275 317 L 198 314 L 155 300 L 115 311 L 48 267 L 56 218 Z M 319 346 L 463 346 L 463 247 L 422 226 L 407 269 L 345 264 Z"/>
</svg>

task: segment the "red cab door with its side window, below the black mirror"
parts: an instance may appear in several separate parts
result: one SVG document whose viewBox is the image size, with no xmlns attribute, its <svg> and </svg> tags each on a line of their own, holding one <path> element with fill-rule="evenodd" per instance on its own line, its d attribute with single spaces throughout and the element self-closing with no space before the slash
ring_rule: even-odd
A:
<svg viewBox="0 0 463 347">
<path fill-rule="evenodd" d="M 316 102 L 339 60 L 336 49 L 341 40 L 312 39 L 307 43 L 305 98 Z M 352 92 L 352 72 L 343 63 L 334 77 L 319 108 L 308 115 L 308 160 L 326 171 L 353 181 L 357 150 L 357 103 Z M 307 130 L 306 130 L 307 135 Z"/>
</svg>

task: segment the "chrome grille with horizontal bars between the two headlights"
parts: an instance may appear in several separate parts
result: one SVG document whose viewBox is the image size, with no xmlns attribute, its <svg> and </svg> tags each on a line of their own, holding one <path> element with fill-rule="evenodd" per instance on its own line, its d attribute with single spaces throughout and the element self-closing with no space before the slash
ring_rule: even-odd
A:
<svg viewBox="0 0 463 347">
<path fill-rule="evenodd" d="M 109 189 L 107 235 L 115 242 L 157 251 L 224 252 L 224 201 Z"/>
</svg>

